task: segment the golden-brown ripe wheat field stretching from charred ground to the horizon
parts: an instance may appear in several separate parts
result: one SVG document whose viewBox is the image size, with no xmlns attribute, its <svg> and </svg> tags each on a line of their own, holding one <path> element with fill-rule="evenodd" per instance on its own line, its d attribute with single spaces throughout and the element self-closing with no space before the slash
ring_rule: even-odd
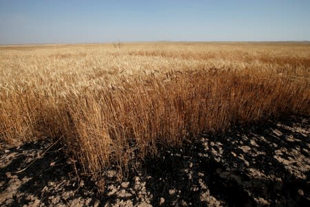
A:
<svg viewBox="0 0 310 207">
<path fill-rule="evenodd" d="M 287 114 L 310 116 L 309 43 L 0 47 L 1 142 L 59 140 L 97 180 L 162 146 Z"/>
</svg>

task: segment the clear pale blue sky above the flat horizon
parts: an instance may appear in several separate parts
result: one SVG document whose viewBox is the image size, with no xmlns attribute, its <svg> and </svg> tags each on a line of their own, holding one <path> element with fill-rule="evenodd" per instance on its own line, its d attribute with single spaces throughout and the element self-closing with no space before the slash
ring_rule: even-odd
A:
<svg viewBox="0 0 310 207">
<path fill-rule="evenodd" d="M 310 0 L 0 0 L 0 44 L 310 41 Z"/>
</svg>

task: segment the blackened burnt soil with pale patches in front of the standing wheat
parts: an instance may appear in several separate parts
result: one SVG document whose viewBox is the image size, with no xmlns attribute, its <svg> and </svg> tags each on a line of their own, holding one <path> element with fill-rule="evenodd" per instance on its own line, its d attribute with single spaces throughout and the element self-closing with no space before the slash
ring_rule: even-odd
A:
<svg viewBox="0 0 310 207">
<path fill-rule="evenodd" d="M 52 143 L 3 145 L 0 206 L 310 206 L 309 117 L 234 127 L 162 149 L 123 181 L 106 171 L 101 195 L 89 177 L 76 177 L 61 144 L 48 149 Z"/>
</svg>

